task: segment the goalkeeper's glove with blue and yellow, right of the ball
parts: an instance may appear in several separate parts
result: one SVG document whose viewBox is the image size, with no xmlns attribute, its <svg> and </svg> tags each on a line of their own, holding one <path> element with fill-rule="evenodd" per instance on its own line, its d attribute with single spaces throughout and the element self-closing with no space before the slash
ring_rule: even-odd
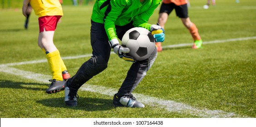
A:
<svg viewBox="0 0 256 127">
<path fill-rule="evenodd" d="M 157 25 L 151 25 L 150 30 L 156 42 L 163 42 L 165 36 L 164 30 L 158 23 Z"/>
</svg>

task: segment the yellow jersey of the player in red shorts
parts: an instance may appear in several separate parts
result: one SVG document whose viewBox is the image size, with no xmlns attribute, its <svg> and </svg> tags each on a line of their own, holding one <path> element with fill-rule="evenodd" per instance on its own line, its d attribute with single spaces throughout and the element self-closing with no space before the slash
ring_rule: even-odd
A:
<svg viewBox="0 0 256 127">
<path fill-rule="evenodd" d="M 30 0 L 30 5 L 39 17 L 63 15 L 59 0 Z"/>
</svg>

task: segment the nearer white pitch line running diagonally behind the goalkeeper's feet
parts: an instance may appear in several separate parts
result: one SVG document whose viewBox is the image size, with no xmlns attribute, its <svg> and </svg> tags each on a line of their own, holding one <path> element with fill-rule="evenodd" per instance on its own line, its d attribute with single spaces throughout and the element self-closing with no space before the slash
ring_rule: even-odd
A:
<svg viewBox="0 0 256 127">
<path fill-rule="evenodd" d="M 33 73 L 30 71 L 24 71 L 16 68 L 11 68 L 8 66 L 0 67 L 0 72 L 9 73 L 12 75 L 17 75 L 23 78 L 32 79 L 40 83 L 49 83 L 48 79 L 50 75 L 44 75 L 40 73 Z M 117 92 L 118 89 L 106 88 L 98 85 L 84 84 L 81 88 L 82 91 L 95 92 L 99 94 L 104 94 L 112 96 Z M 189 114 L 197 117 L 241 117 L 232 112 L 224 112 L 222 110 L 208 110 L 206 108 L 198 109 L 196 107 L 189 106 L 184 103 L 177 103 L 171 100 L 164 100 L 156 97 L 150 97 L 148 95 L 133 93 L 133 95 L 138 99 L 138 101 L 150 105 L 152 107 L 164 108 L 169 112 L 177 112 Z M 246 117 L 246 116 L 243 116 Z"/>
</svg>

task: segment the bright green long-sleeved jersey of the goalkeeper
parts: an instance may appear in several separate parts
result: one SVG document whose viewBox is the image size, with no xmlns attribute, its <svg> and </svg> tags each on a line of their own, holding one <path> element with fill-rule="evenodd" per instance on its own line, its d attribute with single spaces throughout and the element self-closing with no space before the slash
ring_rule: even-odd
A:
<svg viewBox="0 0 256 127">
<path fill-rule="evenodd" d="M 103 23 L 108 39 L 117 39 L 115 25 L 124 26 L 131 21 L 135 27 L 150 30 L 149 17 L 162 0 L 97 0 L 91 19 Z"/>
</svg>

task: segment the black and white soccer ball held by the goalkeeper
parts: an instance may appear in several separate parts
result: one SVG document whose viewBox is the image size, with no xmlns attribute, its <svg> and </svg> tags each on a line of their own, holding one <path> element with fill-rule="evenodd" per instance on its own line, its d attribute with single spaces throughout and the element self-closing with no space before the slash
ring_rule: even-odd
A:
<svg viewBox="0 0 256 127">
<path fill-rule="evenodd" d="M 129 29 L 122 39 L 122 46 L 130 49 L 126 55 L 136 61 L 148 59 L 155 49 L 155 39 L 148 29 L 135 27 Z"/>
</svg>

